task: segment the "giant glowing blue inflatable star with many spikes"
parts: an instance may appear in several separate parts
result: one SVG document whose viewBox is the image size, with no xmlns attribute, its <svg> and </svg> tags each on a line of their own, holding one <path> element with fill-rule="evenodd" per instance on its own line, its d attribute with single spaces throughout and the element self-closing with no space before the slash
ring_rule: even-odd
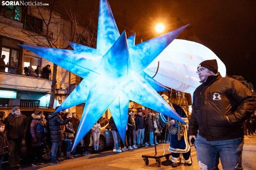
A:
<svg viewBox="0 0 256 170">
<path fill-rule="evenodd" d="M 74 149 L 108 108 L 125 141 L 129 100 L 184 122 L 156 92 L 168 89 L 143 70 L 186 26 L 134 45 L 135 34 L 119 35 L 108 0 L 100 0 L 97 49 L 71 42 L 74 50 L 20 46 L 84 78 L 55 111 L 86 102 Z"/>
</svg>

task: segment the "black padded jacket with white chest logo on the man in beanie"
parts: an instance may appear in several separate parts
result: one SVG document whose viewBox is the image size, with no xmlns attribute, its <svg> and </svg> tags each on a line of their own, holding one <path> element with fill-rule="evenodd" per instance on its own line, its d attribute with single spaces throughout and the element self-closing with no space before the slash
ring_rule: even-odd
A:
<svg viewBox="0 0 256 170">
<path fill-rule="evenodd" d="M 199 135 L 208 141 L 243 137 L 242 123 L 256 109 L 251 91 L 240 81 L 209 76 L 194 92 L 189 135 Z M 227 118 L 228 117 L 228 118 Z"/>
</svg>

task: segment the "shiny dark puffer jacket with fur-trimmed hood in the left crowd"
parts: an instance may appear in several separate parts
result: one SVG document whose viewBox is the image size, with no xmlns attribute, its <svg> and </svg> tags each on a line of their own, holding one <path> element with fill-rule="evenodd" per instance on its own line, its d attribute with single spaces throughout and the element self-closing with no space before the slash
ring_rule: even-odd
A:
<svg viewBox="0 0 256 170">
<path fill-rule="evenodd" d="M 30 134 L 32 136 L 32 147 L 41 146 L 46 144 L 46 134 L 44 134 L 44 129 L 46 129 L 46 122 L 41 119 L 40 115 L 31 115 L 33 117 L 30 124 Z M 44 116 L 44 115 L 43 115 Z"/>
</svg>

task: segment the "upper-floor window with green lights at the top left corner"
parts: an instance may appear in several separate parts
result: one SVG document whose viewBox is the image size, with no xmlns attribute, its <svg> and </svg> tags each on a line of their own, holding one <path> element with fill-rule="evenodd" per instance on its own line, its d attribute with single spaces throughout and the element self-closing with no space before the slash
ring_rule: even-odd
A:
<svg viewBox="0 0 256 170">
<path fill-rule="evenodd" d="M 10 19 L 17 21 L 22 20 L 22 7 L 18 5 L 6 5 L 1 6 L 1 13 Z"/>
</svg>

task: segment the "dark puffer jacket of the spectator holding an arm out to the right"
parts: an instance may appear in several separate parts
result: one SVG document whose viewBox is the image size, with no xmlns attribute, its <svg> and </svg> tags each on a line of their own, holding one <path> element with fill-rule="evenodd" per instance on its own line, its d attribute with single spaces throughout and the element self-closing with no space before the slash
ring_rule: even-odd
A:
<svg viewBox="0 0 256 170">
<path fill-rule="evenodd" d="M 68 122 L 71 121 L 71 118 L 68 117 L 66 120 L 61 118 L 60 113 L 50 113 L 48 114 L 49 119 L 49 128 L 51 134 L 51 141 L 52 142 L 60 142 L 64 140 L 63 135 L 63 125 L 66 125 Z"/>
</svg>

